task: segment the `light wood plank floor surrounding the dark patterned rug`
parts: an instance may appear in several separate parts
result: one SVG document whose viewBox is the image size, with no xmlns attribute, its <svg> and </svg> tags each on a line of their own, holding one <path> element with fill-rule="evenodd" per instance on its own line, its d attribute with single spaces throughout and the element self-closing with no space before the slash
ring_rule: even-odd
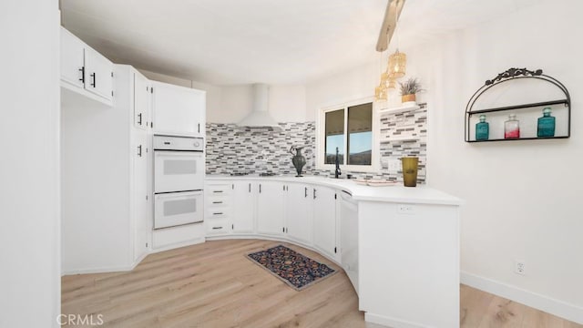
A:
<svg viewBox="0 0 583 328">
<path fill-rule="evenodd" d="M 62 312 L 102 314 L 104 326 L 124 328 L 366 326 L 342 270 L 296 292 L 244 256 L 281 243 L 207 241 L 148 255 L 132 272 L 65 276 Z M 316 252 L 282 244 L 339 269 Z M 461 326 L 583 328 L 465 285 Z"/>
</svg>

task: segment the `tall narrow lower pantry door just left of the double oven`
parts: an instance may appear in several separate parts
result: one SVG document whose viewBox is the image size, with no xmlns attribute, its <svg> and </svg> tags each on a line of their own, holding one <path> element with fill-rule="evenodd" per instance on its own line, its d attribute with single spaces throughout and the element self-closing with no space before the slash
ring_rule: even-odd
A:
<svg viewBox="0 0 583 328">
<path fill-rule="evenodd" d="M 148 234 L 152 229 L 150 213 L 151 198 L 148 194 L 148 133 L 139 131 L 134 133 L 134 261 L 148 251 Z"/>
</svg>

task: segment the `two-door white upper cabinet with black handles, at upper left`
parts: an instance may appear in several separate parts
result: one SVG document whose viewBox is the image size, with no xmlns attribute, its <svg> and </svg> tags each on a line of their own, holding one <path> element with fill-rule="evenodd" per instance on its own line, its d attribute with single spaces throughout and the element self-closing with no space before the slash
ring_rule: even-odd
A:
<svg viewBox="0 0 583 328">
<path fill-rule="evenodd" d="M 61 27 L 61 86 L 107 105 L 113 101 L 113 63 Z"/>
</svg>

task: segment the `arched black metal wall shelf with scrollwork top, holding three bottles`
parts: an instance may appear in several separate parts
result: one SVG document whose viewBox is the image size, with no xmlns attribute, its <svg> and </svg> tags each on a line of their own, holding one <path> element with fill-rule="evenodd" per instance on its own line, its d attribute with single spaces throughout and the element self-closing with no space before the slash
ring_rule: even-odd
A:
<svg viewBox="0 0 583 328">
<path fill-rule="evenodd" d="M 505 72 L 498 74 L 496 78 L 487 80 L 486 84 L 483 87 L 480 87 L 470 98 L 465 107 L 465 141 L 487 142 L 569 138 L 571 100 L 568 90 L 557 79 L 548 77 L 542 73 L 543 71 L 541 69 L 530 71 L 526 68 L 510 68 Z M 486 91 L 491 91 L 492 87 L 501 83 L 518 81 L 525 78 L 547 82 L 550 86 L 559 88 L 565 97 L 505 107 L 476 109 L 476 100 L 483 96 Z M 537 119 L 542 116 L 543 108 L 551 108 L 551 115 L 556 121 L 555 134 L 552 137 L 537 137 Z M 504 138 L 504 124 L 508 119 L 509 114 L 516 115 L 520 122 L 520 138 Z M 479 122 L 479 117 L 481 115 L 486 115 L 486 122 L 489 124 L 490 133 L 489 138 L 476 140 L 476 123 Z"/>
</svg>

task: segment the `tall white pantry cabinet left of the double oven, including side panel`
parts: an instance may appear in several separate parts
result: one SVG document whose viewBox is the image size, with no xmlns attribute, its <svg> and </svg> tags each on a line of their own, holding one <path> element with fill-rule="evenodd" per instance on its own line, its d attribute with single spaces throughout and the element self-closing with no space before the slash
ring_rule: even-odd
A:
<svg viewBox="0 0 583 328">
<path fill-rule="evenodd" d="M 151 86 L 114 65 L 112 106 L 62 93 L 62 272 L 129 270 L 152 229 Z"/>
</svg>

